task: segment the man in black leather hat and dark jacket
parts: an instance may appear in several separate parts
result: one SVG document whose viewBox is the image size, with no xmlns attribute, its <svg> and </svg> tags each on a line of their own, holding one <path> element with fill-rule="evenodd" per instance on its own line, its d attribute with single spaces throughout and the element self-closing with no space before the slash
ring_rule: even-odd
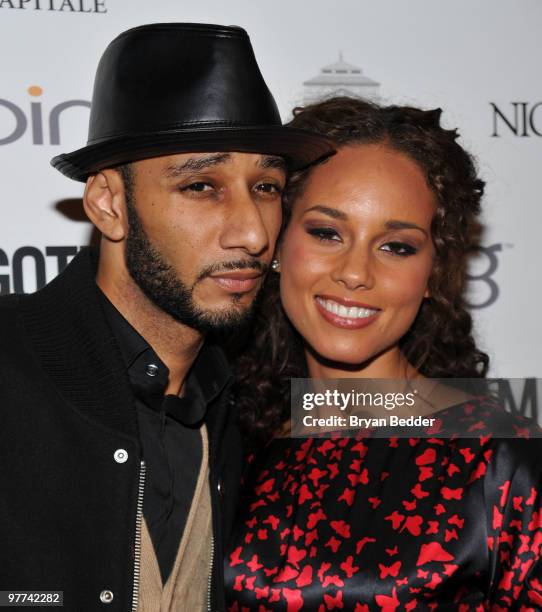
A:
<svg viewBox="0 0 542 612">
<path fill-rule="evenodd" d="M 227 363 L 281 223 L 283 128 L 248 36 L 156 24 L 98 67 L 86 181 L 102 234 L 45 289 L 0 301 L 0 590 L 85 610 L 221 610 L 240 472 Z"/>
</svg>

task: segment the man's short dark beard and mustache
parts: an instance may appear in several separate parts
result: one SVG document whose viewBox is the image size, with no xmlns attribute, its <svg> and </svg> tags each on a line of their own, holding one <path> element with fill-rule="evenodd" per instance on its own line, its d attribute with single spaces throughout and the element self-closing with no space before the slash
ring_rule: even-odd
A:
<svg viewBox="0 0 542 612">
<path fill-rule="evenodd" d="M 141 291 L 158 308 L 176 321 L 203 334 L 235 334 L 246 330 L 254 313 L 254 302 L 247 308 L 235 307 L 243 294 L 231 294 L 232 307 L 221 312 L 202 310 L 193 298 L 195 286 L 210 274 L 225 270 L 252 269 L 264 273 L 267 266 L 259 260 L 230 261 L 208 266 L 200 272 L 192 286 L 184 283 L 162 254 L 150 243 L 135 210 L 132 197 L 127 194 L 128 236 L 125 260 L 128 273 Z M 182 237 L 180 237 L 182 240 Z"/>
</svg>

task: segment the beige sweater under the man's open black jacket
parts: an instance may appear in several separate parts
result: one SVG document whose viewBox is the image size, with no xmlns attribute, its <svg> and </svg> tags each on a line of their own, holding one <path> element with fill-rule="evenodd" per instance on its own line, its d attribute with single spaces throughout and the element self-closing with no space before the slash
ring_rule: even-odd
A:
<svg viewBox="0 0 542 612">
<path fill-rule="evenodd" d="M 143 519 L 138 612 L 198 612 L 207 609 L 211 570 L 212 522 L 209 492 L 209 445 L 201 428 L 203 456 L 183 537 L 173 569 L 162 584 L 152 540 Z"/>
</svg>

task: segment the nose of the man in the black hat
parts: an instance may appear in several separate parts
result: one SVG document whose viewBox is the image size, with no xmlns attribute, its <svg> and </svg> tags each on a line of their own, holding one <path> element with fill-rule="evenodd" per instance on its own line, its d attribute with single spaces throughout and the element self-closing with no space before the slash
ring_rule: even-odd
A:
<svg viewBox="0 0 542 612">
<path fill-rule="evenodd" d="M 223 249 L 241 249 L 253 257 L 269 250 L 269 228 L 261 208 L 266 203 L 255 200 L 248 188 L 239 188 L 231 193 L 221 232 L 220 245 Z"/>
</svg>

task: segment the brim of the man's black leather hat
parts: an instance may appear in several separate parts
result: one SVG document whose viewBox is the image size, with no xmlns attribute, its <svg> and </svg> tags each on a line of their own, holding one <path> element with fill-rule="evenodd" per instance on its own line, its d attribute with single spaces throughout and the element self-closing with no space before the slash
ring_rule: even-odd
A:
<svg viewBox="0 0 542 612">
<path fill-rule="evenodd" d="M 236 151 L 283 157 L 290 170 L 299 170 L 335 152 L 320 134 L 274 127 L 212 127 L 133 134 L 87 145 L 57 155 L 51 165 L 68 178 L 86 179 L 104 168 L 174 153 Z"/>
</svg>

